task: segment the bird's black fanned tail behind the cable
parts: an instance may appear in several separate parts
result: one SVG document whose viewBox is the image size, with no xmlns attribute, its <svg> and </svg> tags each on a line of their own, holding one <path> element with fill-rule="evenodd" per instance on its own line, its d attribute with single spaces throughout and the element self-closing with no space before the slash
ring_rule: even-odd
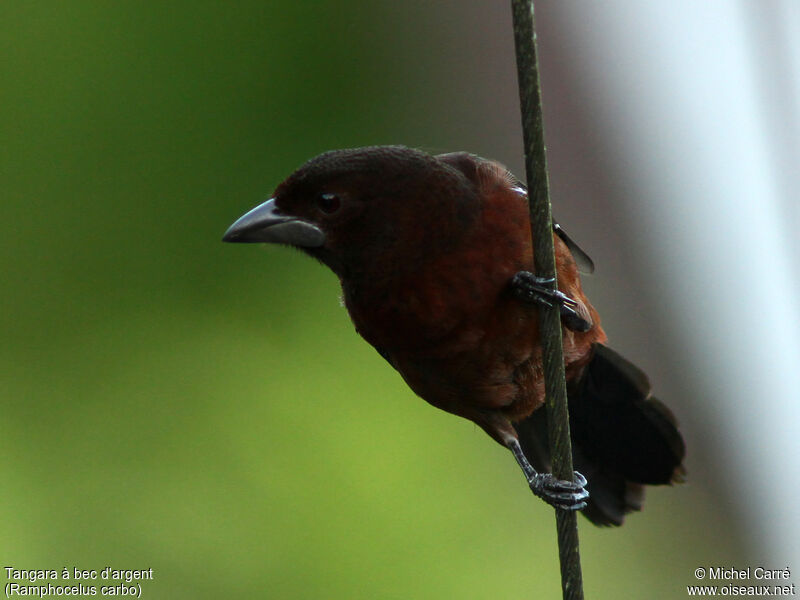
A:
<svg viewBox="0 0 800 600">
<path fill-rule="evenodd" d="M 602 344 L 568 385 L 573 464 L 588 480 L 583 514 L 596 525 L 622 525 L 641 510 L 644 486 L 684 480 L 683 438 L 675 417 L 650 395 L 647 376 Z M 533 466 L 550 471 L 544 409 L 515 424 Z"/>
</svg>

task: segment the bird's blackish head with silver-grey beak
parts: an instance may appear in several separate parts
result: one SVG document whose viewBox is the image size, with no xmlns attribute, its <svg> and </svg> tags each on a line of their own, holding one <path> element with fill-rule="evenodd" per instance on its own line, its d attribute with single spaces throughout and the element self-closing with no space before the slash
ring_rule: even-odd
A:
<svg viewBox="0 0 800 600">
<path fill-rule="evenodd" d="M 294 246 L 342 279 L 378 268 L 397 272 L 457 243 L 479 203 L 461 170 L 424 152 L 334 150 L 290 175 L 223 240 Z"/>
</svg>

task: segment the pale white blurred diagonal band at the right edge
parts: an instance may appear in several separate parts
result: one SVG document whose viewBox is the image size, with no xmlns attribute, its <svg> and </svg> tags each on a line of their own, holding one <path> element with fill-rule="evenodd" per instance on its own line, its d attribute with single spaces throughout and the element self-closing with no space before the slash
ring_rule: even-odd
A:
<svg viewBox="0 0 800 600">
<path fill-rule="evenodd" d="M 635 245 L 726 446 L 720 502 L 738 505 L 760 559 L 800 569 L 800 2 L 558 10 L 607 138 L 630 157 L 626 210 L 647 238 Z"/>
</svg>

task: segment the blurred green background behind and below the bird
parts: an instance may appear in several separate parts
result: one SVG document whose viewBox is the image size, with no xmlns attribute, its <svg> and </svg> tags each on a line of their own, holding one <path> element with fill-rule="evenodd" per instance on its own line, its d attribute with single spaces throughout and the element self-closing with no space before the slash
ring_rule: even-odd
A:
<svg viewBox="0 0 800 600">
<path fill-rule="evenodd" d="M 147 598 L 559 596 L 552 511 L 508 453 L 414 397 L 332 274 L 220 243 L 326 149 L 491 155 L 471 123 L 517 98 L 469 93 L 456 10 L 0 5 L 4 566 L 152 567 Z M 712 506 L 686 486 L 582 520 L 587 597 L 683 597 L 733 562 Z"/>
</svg>

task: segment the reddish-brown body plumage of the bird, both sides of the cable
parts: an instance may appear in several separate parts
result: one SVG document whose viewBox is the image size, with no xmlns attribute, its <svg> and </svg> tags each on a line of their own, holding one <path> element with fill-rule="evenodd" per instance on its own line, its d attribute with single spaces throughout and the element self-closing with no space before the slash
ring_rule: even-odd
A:
<svg viewBox="0 0 800 600">
<path fill-rule="evenodd" d="M 516 435 L 510 421 L 544 402 L 538 313 L 509 291 L 514 274 L 533 265 L 527 200 L 501 165 L 456 156 L 476 161 L 481 202 L 472 225 L 445 252 L 421 257 L 405 277 L 374 280 L 358 295 L 348 294 L 345 282 L 345 303 L 359 333 L 418 395 L 505 443 Z M 399 234 L 413 239 L 420 224 L 407 227 Z M 559 289 L 582 302 L 594 322 L 585 333 L 565 331 L 565 365 L 577 376 L 575 365 L 606 337 L 572 255 L 558 236 L 554 243 Z"/>
</svg>

